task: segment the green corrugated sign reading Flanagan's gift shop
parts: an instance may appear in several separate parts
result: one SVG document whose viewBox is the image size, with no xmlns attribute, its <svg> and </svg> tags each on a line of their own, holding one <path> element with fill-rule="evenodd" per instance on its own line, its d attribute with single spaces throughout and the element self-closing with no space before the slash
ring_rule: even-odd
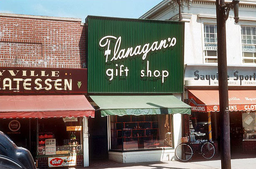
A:
<svg viewBox="0 0 256 169">
<path fill-rule="evenodd" d="M 182 93 L 184 23 L 86 18 L 89 93 Z"/>
</svg>

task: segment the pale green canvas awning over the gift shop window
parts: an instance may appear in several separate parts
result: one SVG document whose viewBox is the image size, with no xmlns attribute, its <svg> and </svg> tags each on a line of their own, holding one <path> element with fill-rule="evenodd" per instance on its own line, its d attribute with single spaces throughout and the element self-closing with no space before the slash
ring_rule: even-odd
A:
<svg viewBox="0 0 256 169">
<path fill-rule="evenodd" d="M 173 95 L 91 95 L 101 116 L 191 114 L 191 107 Z"/>
</svg>

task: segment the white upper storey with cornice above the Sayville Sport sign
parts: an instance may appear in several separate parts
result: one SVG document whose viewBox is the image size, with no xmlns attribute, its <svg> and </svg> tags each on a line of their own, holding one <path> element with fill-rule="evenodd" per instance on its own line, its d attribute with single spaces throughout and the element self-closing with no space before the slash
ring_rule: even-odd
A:
<svg viewBox="0 0 256 169">
<path fill-rule="evenodd" d="M 182 21 L 185 21 L 185 64 L 216 64 L 216 5 L 215 0 L 181 0 Z M 230 0 L 226 2 L 231 2 Z M 239 23 L 234 22 L 233 10 L 226 21 L 227 64 L 255 66 L 256 44 L 256 0 L 241 0 L 239 2 Z M 157 6 L 145 13 L 140 19 L 179 20 L 179 5 L 175 0 L 163 0 Z M 247 32 L 251 28 L 253 42 L 246 41 Z M 209 31 L 207 31 L 207 29 Z M 241 31 L 242 29 L 242 31 Z M 205 32 L 204 32 L 205 31 Z M 242 38 L 241 33 L 244 36 Z M 247 34 L 246 34 L 247 33 Z M 208 37 L 209 36 L 209 37 Z M 211 45 L 209 45 L 211 44 Z M 254 44 L 254 45 L 252 45 Z M 242 52 L 243 45 L 251 46 L 252 52 Z M 208 47 L 208 48 L 207 48 Z M 244 50 L 245 50 L 244 47 Z"/>
</svg>

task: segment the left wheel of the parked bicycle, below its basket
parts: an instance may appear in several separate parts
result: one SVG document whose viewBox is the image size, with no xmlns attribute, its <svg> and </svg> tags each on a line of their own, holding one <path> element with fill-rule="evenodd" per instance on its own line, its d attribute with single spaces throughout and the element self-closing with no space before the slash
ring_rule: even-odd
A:
<svg viewBox="0 0 256 169">
<path fill-rule="evenodd" d="M 190 145 L 186 143 L 179 144 L 175 149 L 175 156 L 181 161 L 188 161 L 193 155 L 193 150 Z"/>
</svg>

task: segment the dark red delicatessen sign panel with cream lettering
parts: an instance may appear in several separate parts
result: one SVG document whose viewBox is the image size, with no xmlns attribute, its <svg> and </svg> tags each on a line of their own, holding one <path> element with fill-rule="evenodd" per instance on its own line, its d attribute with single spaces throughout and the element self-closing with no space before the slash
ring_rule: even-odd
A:
<svg viewBox="0 0 256 169">
<path fill-rule="evenodd" d="M 0 67 L 0 93 L 87 93 L 87 69 Z"/>
</svg>

